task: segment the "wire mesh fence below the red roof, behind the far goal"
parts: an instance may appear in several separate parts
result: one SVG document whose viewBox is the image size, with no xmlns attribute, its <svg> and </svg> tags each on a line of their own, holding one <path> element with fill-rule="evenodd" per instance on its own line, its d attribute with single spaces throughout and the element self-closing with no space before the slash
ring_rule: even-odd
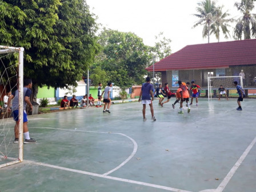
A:
<svg viewBox="0 0 256 192">
<path fill-rule="evenodd" d="M 256 65 L 252 66 L 231 66 L 225 69 L 201 69 L 201 70 L 177 70 L 165 71 L 162 73 L 162 84 L 165 81 L 169 83 L 169 88 L 173 91 L 177 90 L 176 81 L 195 83 L 202 87 L 201 97 L 208 97 L 208 77 L 224 77 L 224 76 L 241 76 L 243 79 L 243 89 L 245 89 L 246 97 L 256 98 Z M 235 87 L 226 87 L 229 97 L 237 97 Z M 218 97 L 218 90 L 213 89 L 214 97 Z"/>
</svg>

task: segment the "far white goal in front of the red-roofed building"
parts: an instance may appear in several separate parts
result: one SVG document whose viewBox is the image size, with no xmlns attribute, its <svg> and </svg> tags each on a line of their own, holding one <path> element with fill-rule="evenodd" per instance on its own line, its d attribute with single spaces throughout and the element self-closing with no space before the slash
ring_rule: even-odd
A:
<svg viewBox="0 0 256 192">
<path fill-rule="evenodd" d="M 226 90 L 234 90 L 234 81 L 243 88 L 242 76 L 208 77 L 208 99 L 212 98 L 213 91 L 217 91 L 220 85 Z"/>
</svg>

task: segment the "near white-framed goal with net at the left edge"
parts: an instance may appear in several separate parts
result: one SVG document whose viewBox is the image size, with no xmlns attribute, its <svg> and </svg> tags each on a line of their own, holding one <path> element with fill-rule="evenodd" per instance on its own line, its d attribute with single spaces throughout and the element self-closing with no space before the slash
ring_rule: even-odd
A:
<svg viewBox="0 0 256 192">
<path fill-rule="evenodd" d="M 23 47 L 0 45 L 0 167 L 23 161 Z M 19 91 L 19 141 L 14 143 L 15 122 L 10 93 Z M 8 109 L 8 107 L 10 109 Z"/>
</svg>

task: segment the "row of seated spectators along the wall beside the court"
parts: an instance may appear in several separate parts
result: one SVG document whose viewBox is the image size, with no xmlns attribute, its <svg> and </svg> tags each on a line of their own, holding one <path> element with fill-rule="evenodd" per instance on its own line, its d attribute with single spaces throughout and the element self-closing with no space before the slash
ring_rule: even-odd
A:
<svg viewBox="0 0 256 192">
<path fill-rule="evenodd" d="M 88 103 L 89 101 L 89 103 Z M 91 94 L 89 95 L 89 98 L 87 99 L 87 94 L 85 96 L 83 96 L 82 100 L 81 100 L 81 107 L 86 107 L 87 105 L 89 106 L 94 106 L 94 98 L 91 96 Z M 75 98 L 75 95 L 73 95 L 73 97 L 70 99 L 67 99 L 67 96 L 65 95 L 64 98 L 61 100 L 61 107 L 62 108 L 66 108 L 66 107 L 78 107 L 78 99 Z"/>
</svg>

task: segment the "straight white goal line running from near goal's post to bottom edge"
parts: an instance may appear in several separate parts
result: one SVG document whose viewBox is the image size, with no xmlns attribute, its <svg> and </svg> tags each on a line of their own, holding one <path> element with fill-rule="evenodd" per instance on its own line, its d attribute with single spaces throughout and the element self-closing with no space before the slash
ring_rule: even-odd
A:
<svg viewBox="0 0 256 192">
<path fill-rule="evenodd" d="M 50 165 L 50 164 L 46 164 L 46 163 L 38 163 L 38 162 L 26 161 L 26 160 L 23 161 L 23 162 L 34 163 L 34 164 L 36 164 L 36 165 L 51 167 L 51 168 L 54 168 L 54 169 L 65 170 L 65 171 L 71 171 L 71 172 L 74 172 L 74 173 L 80 173 L 80 174 L 84 174 L 84 175 L 91 175 L 91 176 L 94 176 L 94 177 L 100 177 L 100 178 L 105 178 L 105 179 L 111 179 L 111 180 L 121 181 L 121 182 L 126 182 L 126 183 L 133 183 L 133 184 L 143 185 L 143 186 L 147 186 L 147 187 L 154 187 L 154 188 L 164 189 L 164 190 L 168 190 L 168 191 L 174 191 L 174 192 L 192 192 L 192 191 L 186 191 L 186 190 L 181 190 L 181 189 L 175 189 L 175 188 L 173 188 L 173 187 L 166 187 L 166 186 L 161 186 L 161 185 L 154 185 L 154 184 L 151 184 L 151 183 L 145 183 L 145 182 L 140 182 L 140 181 L 134 181 L 134 180 L 130 180 L 130 179 L 123 179 L 123 178 L 118 178 L 118 177 L 111 177 L 111 176 L 104 175 L 104 174 L 97 174 L 97 173 L 90 173 L 90 172 L 87 172 L 87 171 L 76 170 L 76 169 L 69 169 L 69 168 L 66 168 L 66 167 L 55 166 L 55 165 Z"/>
</svg>

